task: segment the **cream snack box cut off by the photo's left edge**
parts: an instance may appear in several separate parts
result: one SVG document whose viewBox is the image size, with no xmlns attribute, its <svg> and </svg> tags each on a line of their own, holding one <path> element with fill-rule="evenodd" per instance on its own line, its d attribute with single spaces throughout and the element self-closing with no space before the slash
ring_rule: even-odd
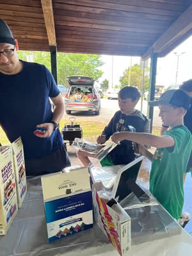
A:
<svg viewBox="0 0 192 256">
<path fill-rule="evenodd" d="M 0 147 L 0 235 L 6 235 L 18 211 L 12 147 Z"/>
</svg>

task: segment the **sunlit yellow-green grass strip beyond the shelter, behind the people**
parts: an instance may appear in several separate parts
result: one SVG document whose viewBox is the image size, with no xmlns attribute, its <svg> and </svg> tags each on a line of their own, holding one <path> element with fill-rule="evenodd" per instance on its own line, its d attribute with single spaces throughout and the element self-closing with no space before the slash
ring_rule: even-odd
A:
<svg viewBox="0 0 192 256">
<path fill-rule="evenodd" d="M 62 119 L 60 122 L 60 129 L 64 127 L 64 125 L 68 123 L 67 119 Z M 81 121 L 79 122 L 83 129 L 83 138 L 84 140 L 95 142 L 97 137 L 101 134 L 106 124 L 103 122 L 93 121 Z M 159 136 L 161 132 L 161 127 L 153 127 L 152 134 Z M 2 145 L 8 145 L 10 142 L 8 138 L 6 138 L 6 134 L 0 128 L 0 143 Z"/>
</svg>

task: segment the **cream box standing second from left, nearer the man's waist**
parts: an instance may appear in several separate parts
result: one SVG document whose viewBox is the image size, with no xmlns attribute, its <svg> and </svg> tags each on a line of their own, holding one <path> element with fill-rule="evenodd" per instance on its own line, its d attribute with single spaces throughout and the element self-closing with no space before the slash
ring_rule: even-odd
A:
<svg viewBox="0 0 192 256">
<path fill-rule="evenodd" d="M 26 168 L 22 140 L 19 137 L 12 143 L 13 163 L 17 188 L 18 207 L 20 208 L 27 193 Z"/>
</svg>

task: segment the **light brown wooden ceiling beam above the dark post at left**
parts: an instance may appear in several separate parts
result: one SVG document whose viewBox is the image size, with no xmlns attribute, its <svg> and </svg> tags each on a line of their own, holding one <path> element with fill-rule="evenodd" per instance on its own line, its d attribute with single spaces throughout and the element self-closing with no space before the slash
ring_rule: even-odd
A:
<svg viewBox="0 0 192 256">
<path fill-rule="evenodd" d="M 44 12 L 45 26 L 49 39 L 49 46 L 56 46 L 56 33 L 54 28 L 54 14 L 52 8 L 52 0 L 41 0 Z"/>
</svg>

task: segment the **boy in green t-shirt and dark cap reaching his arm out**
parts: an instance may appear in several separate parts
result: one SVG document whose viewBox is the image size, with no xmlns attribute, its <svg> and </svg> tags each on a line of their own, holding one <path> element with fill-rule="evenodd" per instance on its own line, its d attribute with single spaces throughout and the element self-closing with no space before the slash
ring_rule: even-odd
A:
<svg viewBox="0 0 192 256">
<path fill-rule="evenodd" d="M 152 161 L 150 192 L 176 220 L 182 214 L 183 177 L 192 148 L 191 132 L 184 126 L 184 115 L 190 102 L 188 93 L 183 90 L 166 91 L 159 100 L 149 102 L 151 106 L 159 106 L 163 125 L 169 126 L 163 136 L 117 132 L 111 138 L 115 143 L 122 140 L 140 143 L 140 154 Z M 156 152 L 150 153 L 143 145 L 156 147 Z"/>
</svg>

